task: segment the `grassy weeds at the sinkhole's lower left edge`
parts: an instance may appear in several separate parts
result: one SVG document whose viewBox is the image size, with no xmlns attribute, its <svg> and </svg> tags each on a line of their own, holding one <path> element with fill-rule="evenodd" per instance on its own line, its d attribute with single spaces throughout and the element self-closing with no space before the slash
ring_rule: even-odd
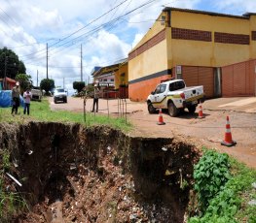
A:
<svg viewBox="0 0 256 223">
<path fill-rule="evenodd" d="M 0 155 L 0 222 L 10 222 L 10 217 L 26 207 L 26 203 L 19 193 L 11 191 L 13 188 L 5 185 L 5 172 L 11 168 L 10 153 L 2 150 Z"/>
</svg>

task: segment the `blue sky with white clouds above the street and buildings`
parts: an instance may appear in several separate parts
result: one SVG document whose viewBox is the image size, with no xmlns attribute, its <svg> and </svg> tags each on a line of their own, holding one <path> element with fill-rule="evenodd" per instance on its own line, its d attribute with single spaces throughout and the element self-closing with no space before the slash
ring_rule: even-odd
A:
<svg viewBox="0 0 256 223">
<path fill-rule="evenodd" d="M 0 48 L 16 52 L 34 85 L 47 78 L 48 54 L 48 77 L 72 91 L 81 58 L 91 82 L 93 67 L 127 58 L 165 7 L 241 16 L 256 0 L 0 0 Z"/>
</svg>

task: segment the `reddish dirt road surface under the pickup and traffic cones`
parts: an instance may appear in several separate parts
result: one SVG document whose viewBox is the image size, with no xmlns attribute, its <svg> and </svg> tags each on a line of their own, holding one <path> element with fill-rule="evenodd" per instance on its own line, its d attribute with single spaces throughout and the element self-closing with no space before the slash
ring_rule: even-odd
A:
<svg viewBox="0 0 256 223">
<path fill-rule="evenodd" d="M 84 100 L 68 98 L 67 104 L 55 104 L 49 98 L 52 110 L 73 112 L 84 111 Z M 86 111 L 91 112 L 92 99 L 86 101 Z M 219 98 L 207 100 L 202 104 L 205 118 L 184 112 L 178 117 L 163 114 L 165 125 L 158 125 L 159 114 L 149 114 L 146 103 L 129 100 L 99 99 L 99 112 L 109 115 L 126 115 L 134 125 L 130 133 L 134 136 L 168 138 L 179 136 L 186 141 L 193 140 L 199 145 L 216 148 L 236 157 L 247 166 L 256 168 L 256 98 Z M 226 117 L 230 117 L 233 140 L 238 144 L 227 147 L 220 143 L 224 140 Z"/>
</svg>

